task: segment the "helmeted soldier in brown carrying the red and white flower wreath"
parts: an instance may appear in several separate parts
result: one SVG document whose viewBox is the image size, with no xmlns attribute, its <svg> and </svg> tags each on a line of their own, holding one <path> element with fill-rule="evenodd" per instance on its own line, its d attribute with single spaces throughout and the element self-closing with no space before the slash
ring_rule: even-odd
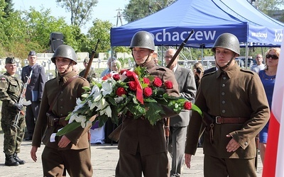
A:
<svg viewBox="0 0 284 177">
<path fill-rule="evenodd" d="M 180 96 L 178 83 L 173 72 L 165 67 L 158 67 L 152 59 L 155 50 L 152 35 L 138 31 L 133 35 L 130 48 L 136 66 L 146 67 L 149 74 L 159 77 L 163 82 L 172 81 L 173 89 L 167 89 L 170 96 Z M 176 115 L 173 110 L 165 109 L 167 117 Z M 151 125 L 143 118 L 133 119 L 126 113 L 122 120 L 119 137 L 119 161 L 116 176 L 169 176 L 163 121 Z"/>
</svg>

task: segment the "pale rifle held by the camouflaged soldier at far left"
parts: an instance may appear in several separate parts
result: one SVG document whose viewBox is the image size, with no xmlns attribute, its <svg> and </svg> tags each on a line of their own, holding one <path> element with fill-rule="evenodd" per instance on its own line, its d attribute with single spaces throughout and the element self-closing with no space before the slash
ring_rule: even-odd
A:
<svg viewBox="0 0 284 177">
<path fill-rule="evenodd" d="M 28 84 L 31 82 L 31 75 L 33 74 L 33 70 L 31 70 L 30 76 L 27 77 L 26 83 L 23 85 L 23 91 L 21 92 L 20 98 L 18 100 L 19 105 L 31 105 L 31 101 L 26 101 L 26 88 L 28 87 Z M 25 115 L 25 112 L 23 110 L 19 110 L 18 114 L 16 115 L 15 119 L 13 120 L 13 127 L 20 128 L 18 127 L 18 120 L 20 118 L 20 115 Z"/>
</svg>

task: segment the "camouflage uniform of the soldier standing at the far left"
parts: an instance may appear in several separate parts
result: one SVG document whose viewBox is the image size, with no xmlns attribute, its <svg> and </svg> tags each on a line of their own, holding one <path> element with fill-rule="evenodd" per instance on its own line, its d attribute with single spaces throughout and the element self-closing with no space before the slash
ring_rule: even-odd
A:
<svg viewBox="0 0 284 177">
<path fill-rule="evenodd" d="M 13 127 L 13 122 L 18 115 L 18 110 L 13 107 L 14 103 L 18 103 L 23 89 L 22 81 L 16 76 L 5 73 L 0 76 L 0 101 L 2 101 L 1 109 L 1 127 L 4 132 L 4 153 L 12 155 L 20 152 L 21 142 L 23 141 L 25 120 L 20 114 L 18 119 L 18 127 Z"/>
</svg>

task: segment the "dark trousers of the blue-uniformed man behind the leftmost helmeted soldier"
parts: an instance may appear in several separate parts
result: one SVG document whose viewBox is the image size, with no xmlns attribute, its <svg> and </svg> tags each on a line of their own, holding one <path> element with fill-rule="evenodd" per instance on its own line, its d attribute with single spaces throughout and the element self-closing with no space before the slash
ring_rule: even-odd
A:
<svg viewBox="0 0 284 177">
<path fill-rule="evenodd" d="M 28 129 L 28 136 L 33 136 L 35 130 L 35 121 L 38 118 L 38 111 L 40 109 L 40 102 L 32 102 L 26 107 L 26 127 Z"/>
</svg>

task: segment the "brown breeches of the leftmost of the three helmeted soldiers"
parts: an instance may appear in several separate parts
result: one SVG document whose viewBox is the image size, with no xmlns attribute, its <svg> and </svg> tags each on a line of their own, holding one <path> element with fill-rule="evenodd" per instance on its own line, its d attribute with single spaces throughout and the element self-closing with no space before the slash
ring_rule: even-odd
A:
<svg viewBox="0 0 284 177">
<path fill-rule="evenodd" d="M 89 148 L 58 151 L 45 147 L 41 157 L 44 176 L 60 177 L 65 168 L 71 177 L 92 177 L 93 169 Z"/>
</svg>

